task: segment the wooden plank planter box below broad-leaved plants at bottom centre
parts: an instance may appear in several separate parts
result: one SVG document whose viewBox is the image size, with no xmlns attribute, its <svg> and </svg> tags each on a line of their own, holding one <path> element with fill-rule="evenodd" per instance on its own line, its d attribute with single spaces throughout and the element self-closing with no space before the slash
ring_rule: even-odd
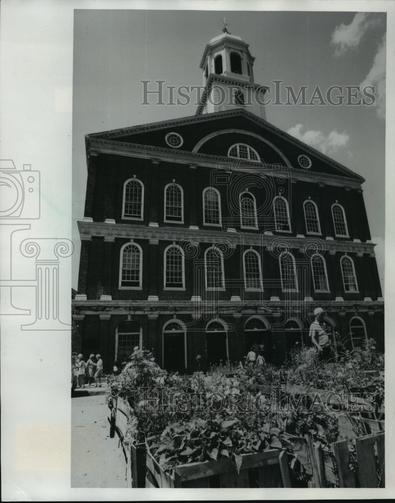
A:
<svg viewBox="0 0 395 503">
<path fill-rule="evenodd" d="M 238 473 L 229 458 L 164 470 L 146 447 L 145 487 L 291 487 L 285 449 L 244 454 Z"/>
</svg>

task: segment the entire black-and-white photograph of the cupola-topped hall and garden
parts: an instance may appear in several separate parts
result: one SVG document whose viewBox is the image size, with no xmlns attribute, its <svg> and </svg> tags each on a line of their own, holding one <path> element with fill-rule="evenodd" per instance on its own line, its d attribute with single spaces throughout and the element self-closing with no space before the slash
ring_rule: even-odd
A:
<svg viewBox="0 0 395 503">
<path fill-rule="evenodd" d="M 384 487 L 385 34 L 75 11 L 73 487 Z"/>
</svg>

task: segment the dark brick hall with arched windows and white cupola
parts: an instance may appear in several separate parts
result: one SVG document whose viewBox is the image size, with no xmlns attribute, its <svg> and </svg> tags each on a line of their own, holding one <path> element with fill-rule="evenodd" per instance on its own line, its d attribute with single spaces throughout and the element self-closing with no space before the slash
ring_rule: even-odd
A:
<svg viewBox="0 0 395 503">
<path fill-rule="evenodd" d="M 317 306 L 350 349 L 383 350 L 364 179 L 266 121 L 253 63 L 225 31 L 194 116 L 86 136 L 73 319 L 107 370 L 135 346 L 180 372 L 254 342 L 279 363 Z"/>
</svg>

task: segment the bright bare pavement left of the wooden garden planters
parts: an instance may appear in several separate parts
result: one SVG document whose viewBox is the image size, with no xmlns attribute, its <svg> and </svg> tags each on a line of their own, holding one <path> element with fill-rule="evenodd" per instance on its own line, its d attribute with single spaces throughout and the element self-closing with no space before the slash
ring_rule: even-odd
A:
<svg viewBox="0 0 395 503">
<path fill-rule="evenodd" d="M 126 487 L 125 456 L 118 436 L 110 438 L 105 392 L 103 385 L 86 387 L 71 398 L 71 487 Z"/>
</svg>

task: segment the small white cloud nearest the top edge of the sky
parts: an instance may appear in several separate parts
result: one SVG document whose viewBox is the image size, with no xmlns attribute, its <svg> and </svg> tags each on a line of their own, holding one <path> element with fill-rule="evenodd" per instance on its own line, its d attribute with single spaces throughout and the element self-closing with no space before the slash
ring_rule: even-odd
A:
<svg viewBox="0 0 395 503">
<path fill-rule="evenodd" d="M 336 46 L 337 56 L 344 54 L 347 49 L 355 49 L 358 46 L 367 29 L 375 24 L 375 21 L 368 16 L 368 13 L 357 12 L 349 25 L 342 23 L 335 28 L 331 43 Z"/>
</svg>

